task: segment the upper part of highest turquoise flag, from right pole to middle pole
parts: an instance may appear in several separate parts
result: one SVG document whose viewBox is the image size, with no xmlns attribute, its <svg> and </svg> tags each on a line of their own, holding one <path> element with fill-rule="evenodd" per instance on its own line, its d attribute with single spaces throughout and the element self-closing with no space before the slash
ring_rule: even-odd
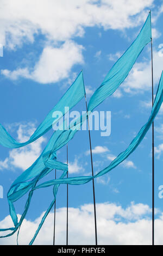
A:
<svg viewBox="0 0 163 256">
<path fill-rule="evenodd" d="M 145 25 L 142 27 L 141 32 L 133 44 L 131 44 L 122 57 L 117 60 L 114 66 L 112 66 L 101 86 L 98 87 L 96 92 L 92 95 L 88 105 L 89 111 L 92 111 L 102 101 L 104 101 L 106 97 L 115 92 L 115 90 L 128 76 L 137 57 L 143 48 L 151 41 L 151 38 L 151 13 L 149 13 Z"/>
</svg>

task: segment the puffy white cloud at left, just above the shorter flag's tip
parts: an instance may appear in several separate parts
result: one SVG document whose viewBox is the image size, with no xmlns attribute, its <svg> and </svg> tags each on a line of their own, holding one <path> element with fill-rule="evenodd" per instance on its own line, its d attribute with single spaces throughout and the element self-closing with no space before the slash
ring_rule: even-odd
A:
<svg viewBox="0 0 163 256">
<path fill-rule="evenodd" d="M 1 70 L 1 74 L 11 80 L 24 77 L 39 83 L 55 83 L 70 77 L 72 66 L 84 62 L 82 49 L 73 41 L 66 41 L 60 47 L 46 47 L 33 71 L 19 68 L 14 71 Z"/>
</svg>

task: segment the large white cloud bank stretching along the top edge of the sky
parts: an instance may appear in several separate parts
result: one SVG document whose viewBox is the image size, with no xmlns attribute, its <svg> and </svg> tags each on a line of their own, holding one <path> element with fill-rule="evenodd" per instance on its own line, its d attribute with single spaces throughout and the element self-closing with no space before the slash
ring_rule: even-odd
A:
<svg viewBox="0 0 163 256">
<path fill-rule="evenodd" d="M 83 36 L 85 27 L 135 27 L 145 20 L 153 0 L 2 0 L 1 44 L 14 48 L 41 33 L 47 40 L 66 41 Z M 135 16 L 137 15 L 137 16 Z"/>
</svg>

